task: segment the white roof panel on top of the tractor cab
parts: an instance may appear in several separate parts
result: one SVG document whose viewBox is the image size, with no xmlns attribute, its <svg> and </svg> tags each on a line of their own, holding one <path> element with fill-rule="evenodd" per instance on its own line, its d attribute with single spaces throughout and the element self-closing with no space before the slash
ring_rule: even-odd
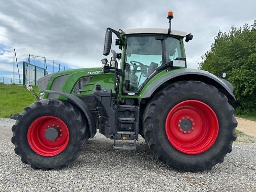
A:
<svg viewBox="0 0 256 192">
<path fill-rule="evenodd" d="M 159 34 L 167 34 L 167 28 L 134 28 L 134 29 L 120 29 L 123 34 L 143 34 L 143 33 L 159 33 Z M 177 35 L 185 37 L 187 35 L 186 32 L 172 30 L 171 35 Z"/>
</svg>

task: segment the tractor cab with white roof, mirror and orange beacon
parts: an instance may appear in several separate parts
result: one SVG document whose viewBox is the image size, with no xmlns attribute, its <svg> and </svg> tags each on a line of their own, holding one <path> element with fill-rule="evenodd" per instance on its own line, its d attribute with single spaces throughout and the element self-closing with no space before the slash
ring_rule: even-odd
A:
<svg viewBox="0 0 256 192">
<path fill-rule="evenodd" d="M 187 66 L 183 38 L 186 37 L 188 42 L 193 38 L 191 34 L 187 35 L 185 32 L 171 30 L 171 28 L 136 28 L 119 29 L 119 31 L 107 28 L 105 56 L 111 49 L 112 33 L 118 37 L 116 45 L 119 45 L 122 52 L 116 53 L 112 50 L 110 65 L 107 59 L 102 60 L 103 72 L 118 71 L 116 75 L 122 78 L 116 77 L 118 81 L 116 84 L 121 85 L 118 90 L 116 87 L 116 91 L 120 91 L 122 95 L 138 95 L 144 85 L 164 69 L 171 70 Z M 120 69 L 117 68 L 116 59 L 121 59 Z"/>
</svg>

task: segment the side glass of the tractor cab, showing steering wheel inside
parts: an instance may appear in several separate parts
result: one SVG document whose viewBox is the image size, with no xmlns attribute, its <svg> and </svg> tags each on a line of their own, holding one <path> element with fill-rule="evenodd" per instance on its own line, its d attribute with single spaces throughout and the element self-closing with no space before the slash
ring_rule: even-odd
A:
<svg viewBox="0 0 256 192">
<path fill-rule="evenodd" d="M 163 35 L 134 35 L 126 39 L 123 93 L 138 93 L 147 77 L 166 62 L 182 57 L 180 40 Z"/>
</svg>

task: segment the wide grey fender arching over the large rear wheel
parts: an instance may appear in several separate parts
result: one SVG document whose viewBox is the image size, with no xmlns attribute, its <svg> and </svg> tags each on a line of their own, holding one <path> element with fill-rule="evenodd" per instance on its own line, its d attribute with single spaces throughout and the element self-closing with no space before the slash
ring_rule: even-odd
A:
<svg viewBox="0 0 256 192">
<path fill-rule="evenodd" d="M 207 84 L 211 84 L 218 88 L 221 92 L 224 92 L 224 94 L 228 96 L 228 98 L 232 98 L 236 101 L 236 98 L 233 94 L 234 88 L 230 82 L 224 79 L 220 79 L 212 73 L 209 73 L 208 71 L 200 69 L 182 69 L 173 72 L 170 71 L 166 75 L 154 80 L 154 82 L 152 82 L 149 87 L 145 86 L 144 88 L 146 89 L 142 89 L 140 98 L 149 98 L 157 90 L 157 88 L 159 88 L 162 84 L 168 81 L 173 83 L 182 80 L 197 80 Z"/>
</svg>

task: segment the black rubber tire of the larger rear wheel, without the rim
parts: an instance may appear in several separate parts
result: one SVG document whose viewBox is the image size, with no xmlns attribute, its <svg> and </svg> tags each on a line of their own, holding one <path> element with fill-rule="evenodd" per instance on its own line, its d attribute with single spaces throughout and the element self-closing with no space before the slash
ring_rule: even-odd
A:
<svg viewBox="0 0 256 192">
<path fill-rule="evenodd" d="M 186 100 L 199 100 L 207 104 L 215 112 L 219 123 L 219 132 L 213 145 L 196 155 L 174 148 L 165 132 L 168 113 L 176 104 Z M 164 164 L 180 171 L 210 170 L 215 164 L 223 162 L 236 140 L 234 108 L 215 87 L 199 81 L 180 81 L 157 92 L 145 108 L 143 122 L 143 133 L 149 149 Z"/>
</svg>

